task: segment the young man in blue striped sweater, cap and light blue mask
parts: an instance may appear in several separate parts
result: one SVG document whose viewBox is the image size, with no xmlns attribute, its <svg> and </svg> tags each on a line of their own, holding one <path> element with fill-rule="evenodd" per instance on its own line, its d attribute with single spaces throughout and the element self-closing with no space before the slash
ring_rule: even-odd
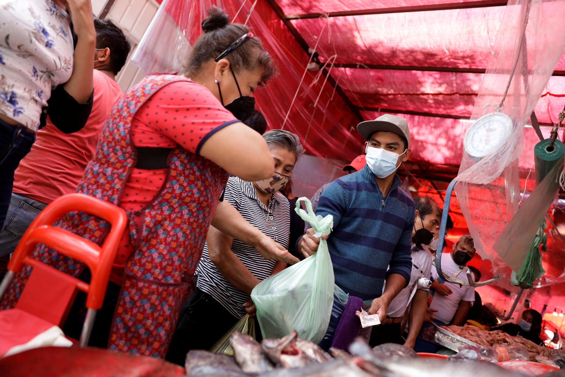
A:
<svg viewBox="0 0 565 377">
<path fill-rule="evenodd" d="M 321 194 L 316 215 L 333 216 L 333 231 L 323 237 L 336 284 L 371 302 L 368 313 L 378 314 L 382 322 L 390 302 L 410 281 L 412 269 L 415 206 L 398 187 L 401 180 L 394 173 L 410 156 L 410 131 L 405 118 L 389 114 L 359 123 L 357 131 L 368 142 L 367 164 L 334 180 Z M 308 257 L 319 243 L 310 228 L 297 249 Z"/>
</svg>

